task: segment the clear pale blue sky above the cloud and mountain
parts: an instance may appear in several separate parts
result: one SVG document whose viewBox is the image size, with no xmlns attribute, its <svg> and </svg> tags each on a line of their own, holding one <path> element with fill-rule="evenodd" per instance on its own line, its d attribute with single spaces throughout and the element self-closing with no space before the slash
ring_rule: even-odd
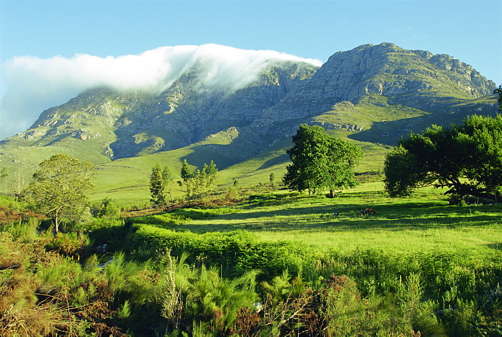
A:
<svg viewBox="0 0 502 337">
<path fill-rule="evenodd" d="M 502 83 L 500 0 L 0 2 L 2 64 L 26 55 L 117 57 L 207 43 L 325 62 L 337 51 L 382 42 L 449 54 Z M 10 85 L 0 83 L 4 96 Z M 3 105 L 5 125 L 12 116 Z"/>
</svg>

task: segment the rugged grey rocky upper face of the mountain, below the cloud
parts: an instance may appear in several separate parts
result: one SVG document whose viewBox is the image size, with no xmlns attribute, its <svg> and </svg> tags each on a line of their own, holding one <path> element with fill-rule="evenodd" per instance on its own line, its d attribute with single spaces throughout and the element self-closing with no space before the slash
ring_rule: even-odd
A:
<svg viewBox="0 0 502 337">
<path fill-rule="evenodd" d="M 361 132 L 370 125 L 358 122 L 361 102 L 377 110 L 399 105 L 439 114 L 495 88 L 451 56 L 390 43 L 337 52 L 320 68 L 278 61 L 233 91 L 201 88 L 204 69 L 194 66 L 158 95 L 105 88 L 81 93 L 44 111 L 28 131 L 0 146 L 63 146 L 71 138 L 79 141 L 72 144 L 92 143 L 101 155 L 118 159 L 210 142 L 228 133 L 237 135 L 232 140 L 240 153 L 234 155 L 248 158 L 291 136 L 299 124 L 318 123 L 327 114 L 345 116 L 332 123 L 333 129 Z"/>
</svg>

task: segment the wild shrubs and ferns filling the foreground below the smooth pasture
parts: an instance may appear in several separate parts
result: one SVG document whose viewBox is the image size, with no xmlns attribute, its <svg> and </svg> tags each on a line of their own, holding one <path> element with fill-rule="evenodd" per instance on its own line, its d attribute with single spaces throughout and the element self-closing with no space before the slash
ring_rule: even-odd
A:
<svg viewBox="0 0 502 337">
<path fill-rule="evenodd" d="M 268 201 L 268 197 L 263 194 L 254 200 Z M 320 207 L 321 200 L 304 197 L 296 201 L 302 202 L 297 206 L 318 202 L 312 206 Z M 348 197 L 340 203 L 348 200 L 354 199 Z M 487 211 L 499 217 L 497 205 L 493 207 Z M 204 216 L 205 211 L 226 213 L 225 208 L 179 210 L 199 221 L 221 219 Z M 118 219 L 94 220 L 119 224 Z M 375 224 L 380 226 L 373 222 L 371 232 Z M 95 232 L 102 229 L 95 226 Z M 104 222 L 102 226 L 106 227 Z M 0 331 L 12 331 L 2 329 L 12 329 L 16 325 L 8 325 L 17 319 L 32 324 L 35 318 L 29 314 L 37 312 L 36 321 L 45 322 L 49 331 L 38 334 L 50 334 L 55 328 L 66 333 L 70 327 L 60 323 L 70 320 L 82 324 L 71 330 L 83 331 L 75 332 L 81 335 L 96 331 L 141 335 L 145 328 L 157 335 L 500 334 L 502 290 L 497 283 L 502 280 L 502 265 L 493 249 L 488 257 L 477 251 L 447 252 L 442 247 L 411 254 L 387 248 L 321 254 L 293 242 L 260 241 L 244 231 L 195 234 L 146 224 L 130 230 L 127 249 L 133 254 L 129 258 L 151 262 L 128 261 L 126 255 L 114 254 L 104 266 L 96 256 L 78 264 L 75 258 L 55 254 L 70 244 L 77 246 L 78 240 L 83 242 L 75 233 L 46 233 L 41 240 L 54 241 L 47 247 L 55 250 L 39 249 L 37 253 L 9 233 L 0 233 L 0 277 L 5 281 L 0 284 Z M 346 231 L 358 236 L 365 233 L 355 227 Z M 378 231 L 385 236 L 383 228 Z M 421 233 L 417 226 L 415 240 L 423 240 Z M 302 241 L 307 234 L 303 231 Z M 26 238 L 26 242 L 31 240 Z M 173 258 L 166 247 L 174 247 L 172 253 L 179 258 Z M 16 265 L 27 268 L 12 268 Z M 258 274 L 256 269 L 263 272 Z M 263 281 L 261 287 L 257 280 Z M 12 303 L 13 308 L 23 309 L 9 309 Z M 49 312 L 62 316 L 49 318 L 45 315 Z M 39 331 L 35 323 L 30 326 Z"/>
</svg>

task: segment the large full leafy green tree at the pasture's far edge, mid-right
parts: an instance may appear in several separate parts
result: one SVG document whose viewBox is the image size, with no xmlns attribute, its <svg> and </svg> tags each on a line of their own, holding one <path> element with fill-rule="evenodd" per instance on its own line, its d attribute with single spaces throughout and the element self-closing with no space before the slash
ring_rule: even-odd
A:
<svg viewBox="0 0 502 337">
<path fill-rule="evenodd" d="M 330 137 L 320 126 L 300 125 L 293 136 L 294 146 L 287 150 L 292 164 L 286 167 L 284 183 L 309 194 L 357 185 L 353 167 L 363 156 L 353 144 Z"/>
</svg>

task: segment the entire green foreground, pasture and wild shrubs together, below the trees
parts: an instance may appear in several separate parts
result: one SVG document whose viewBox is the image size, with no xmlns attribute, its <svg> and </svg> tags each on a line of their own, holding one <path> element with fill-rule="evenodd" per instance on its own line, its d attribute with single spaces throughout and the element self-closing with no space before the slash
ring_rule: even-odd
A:
<svg viewBox="0 0 502 337">
<path fill-rule="evenodd" d="M 33 335 L 153 335 L 145 326 L 167 335 L 172 289 L 179 328 L 193 332 L 186 335 L 215 335 L 214 312 L 240 331 L 219 335 L 500 335 L 502 204 L 450 206 L 435 189 L 388 198 L 381 178 L 358 176 L 361 185 L 334 198 L 233 188 L 240 203 L 222 193 L 224 207 L 92 218 L 85 233 L 58 235 L 23 223 L 26 205 L 0 198 L 0 276 L 8 280 L 0 334 L 22 334 L 23 319 Z M 361 217 L 364 207 L 376 214 Z M 32 293 L 52 306 L 19 299 Z M 309 320 L 316 315 L 328 318 Z M 307 327 L 313 333 L 301 334 Z"/>
</svg>

